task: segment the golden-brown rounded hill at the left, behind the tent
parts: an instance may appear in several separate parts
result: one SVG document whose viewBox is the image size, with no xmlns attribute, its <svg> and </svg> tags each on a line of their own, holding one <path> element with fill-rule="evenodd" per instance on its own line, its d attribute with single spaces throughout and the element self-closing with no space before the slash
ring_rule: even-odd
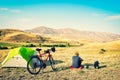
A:
<svg viewBox="0 0 120 80">
<path fill-rule="evenodd" d="M 0 41 L 43 42 L 44 37 L 15 29 L 0 29 Z"/>
</svg>

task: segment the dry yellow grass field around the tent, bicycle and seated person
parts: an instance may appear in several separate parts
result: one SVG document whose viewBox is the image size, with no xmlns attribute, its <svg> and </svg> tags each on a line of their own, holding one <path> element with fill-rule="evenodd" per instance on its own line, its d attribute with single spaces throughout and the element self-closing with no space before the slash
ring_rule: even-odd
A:
<svg viewBox="0 0 120 80">
<path fill-rule="evenodd" d="M 89 44 L 83 47 L 56 48 L 52 53 L 56 62 L 57 71 L 53 72 L 50 66 L 47 66 L 44 72 L 38 75 L 31 75 L 26 68 L 0 68 L 0 80 L 120 80 L 120 49 L 118 45 L 109 48 L 112 43 L 103 44 L 106 52 L 100 54 L 103 47 L 101 44 Z M 95 46 L 100 46 L 96 47 Z M 112 44 L 113 45 L 113 44 Z M 94 48 L 93 48 L 94 47 Z M 42 48 L 47 49 L 47 48 Z M 82 70 L 69 69 L 71 58 L 75 52 L 79 52 L 84 59 Z M 9 50 L 0 50 L 0 63 L 6 57 Z M 93 63 L 98 60 L 100 69 L 94 69 Z M 85 65 L 89 68 L 86 69 Z"/>
</svg>

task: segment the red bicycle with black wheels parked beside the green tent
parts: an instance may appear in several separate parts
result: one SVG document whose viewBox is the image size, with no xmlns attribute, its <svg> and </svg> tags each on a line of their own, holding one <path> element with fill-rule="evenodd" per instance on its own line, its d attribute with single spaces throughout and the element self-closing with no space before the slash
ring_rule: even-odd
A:
<svg viewBox="0 0 120 80">
<path fill-rule="evenodd" d="M 41 69 L 46 68 L 46 64 L 47 64 L 47 60 L 49 61 L 51 68 L 53 71 L 56 70 L 55 68 L 55 63 L 54 63 L 54 59 L 52 57 L 52 55 L 50 54 L 50 49 L 46 50 L 44 53 L 41 53 L 41 49 L 36 49 L 39 53 L 39 55 L 37 56 L 32 56 L 30 58 L 30 60 L 27 63 L 27 70 L 29 73 L 31 74 L 38 74 L 40 72 Z M 53 50 L 51 49 L 51 51 L 55 52 L 55 48 L 53 48 Z M 45 60 L 42 59 L 43 55 L 47 55 L 47 57 L 45 57 Z M 35 62 L 34 64 L 32 64 L 33 67 L 31 67 L 31 63 L 33 63 L 33 60 L 40 61 L 39 63 L 41 63 L 40 65 L 37 65 L 37 62 Z"/>
</svg>

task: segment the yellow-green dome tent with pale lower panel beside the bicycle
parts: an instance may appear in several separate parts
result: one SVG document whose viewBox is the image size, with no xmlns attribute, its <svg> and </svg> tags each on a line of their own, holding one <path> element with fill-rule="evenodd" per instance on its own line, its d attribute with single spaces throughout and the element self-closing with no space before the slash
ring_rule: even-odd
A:
<svg viewBox="0 0 120 80">
<path fill-rule="evenodd" d="M 5 60 L 2 62 L 2 67 L 26 67 L 27 62 L 35 50 L 26 47 L 11 49 Z"/>
</svg>

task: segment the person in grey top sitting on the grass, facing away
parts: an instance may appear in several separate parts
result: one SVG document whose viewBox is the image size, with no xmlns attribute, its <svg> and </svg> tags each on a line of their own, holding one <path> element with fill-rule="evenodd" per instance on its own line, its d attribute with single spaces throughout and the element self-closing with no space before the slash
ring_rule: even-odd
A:
<svg viewBox="0 0 120 80">
<path fill-rule="evenodd" d="M 75 56 L 72 57 L 72 67 L 73 68 L 82 68 L 81 63 L 82 63 L 83 59 L 81 57 L 79 57 L 79 53 L 76 52 Z"/>
</svg>

